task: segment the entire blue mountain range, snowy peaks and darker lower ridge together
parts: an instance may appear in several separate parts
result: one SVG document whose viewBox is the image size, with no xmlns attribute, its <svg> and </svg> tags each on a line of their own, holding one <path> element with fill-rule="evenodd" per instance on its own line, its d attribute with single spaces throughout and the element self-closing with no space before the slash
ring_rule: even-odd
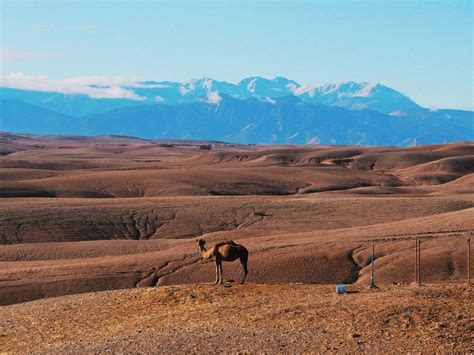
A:
<svg viewBox="0 0 474 355">
<path fill-rule="evenodd" d="M 472 111 L 430 110 L 378 83 L 302 86 L 284 77 L 233 84 L 47 81 L 0 87 L 0 131 L 116 134 L 235 143 L 410 145 L 474 140 Z"/>
</svg>

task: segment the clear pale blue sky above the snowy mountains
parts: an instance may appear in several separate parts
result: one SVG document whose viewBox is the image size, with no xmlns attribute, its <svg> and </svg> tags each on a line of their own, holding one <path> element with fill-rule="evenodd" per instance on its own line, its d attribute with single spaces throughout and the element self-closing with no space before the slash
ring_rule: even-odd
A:
<svg viewBox="0 0 474 355">
<path fill-rule="evenodd" d="M 368 81 L 474 108 L 472 1 L 0 3 L 2 76 Z"/>
</svg>

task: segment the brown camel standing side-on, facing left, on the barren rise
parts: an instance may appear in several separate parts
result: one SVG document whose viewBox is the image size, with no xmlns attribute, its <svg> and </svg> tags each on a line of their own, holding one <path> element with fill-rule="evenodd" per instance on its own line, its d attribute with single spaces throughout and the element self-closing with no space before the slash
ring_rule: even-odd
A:
<svg viewBox="0 0 474 355">
<path fill-rule="evenodd" d="M 204 239 L 197 240 L 199 252 L 204 259 L 214 259 L 216 263 L 216 284 L 222 284 L 222 262 L 234 261 L 239 259 L 244 269 L 244 278 L 241 284 L 245 282 L 247 277 L 247 260 L 249 256 L 248 250 L 240 244 L 234 243 L 232 240 L 214 244 L 210 249 L 206 249 L 206 241 Z"/>
</svg>

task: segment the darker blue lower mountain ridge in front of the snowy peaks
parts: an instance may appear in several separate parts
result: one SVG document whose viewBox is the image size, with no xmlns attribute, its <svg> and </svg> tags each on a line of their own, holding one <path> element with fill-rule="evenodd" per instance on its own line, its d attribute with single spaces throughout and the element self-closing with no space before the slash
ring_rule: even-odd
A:
<svg viewBox="0 0 474 355">
<path fill-rule="evenodd" d="M 142 104 L 72 117 L 27 104 L 0 100 L 0 131 L 126 135 L 148 139 L 218 140 L 231 143 L 351 144 L 408 146 L 473 140 L 472 113 L 421 111 L 393 116 L 311 104 L 296 96 L 235 99 L 219 104 Z"/>
</svg>

